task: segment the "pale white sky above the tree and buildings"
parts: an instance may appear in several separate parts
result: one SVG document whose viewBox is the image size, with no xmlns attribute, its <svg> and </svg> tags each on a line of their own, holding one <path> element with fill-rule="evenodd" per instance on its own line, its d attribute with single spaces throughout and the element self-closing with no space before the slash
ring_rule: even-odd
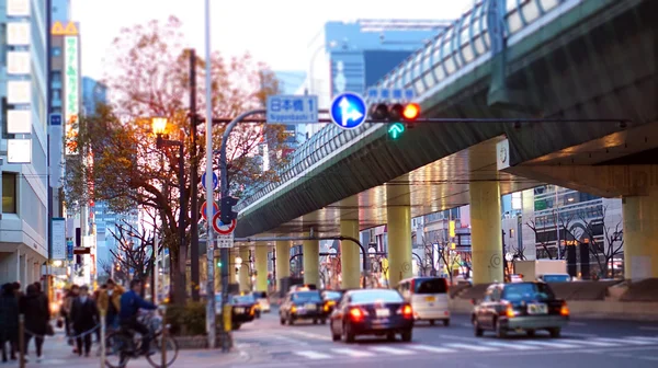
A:
<svg viewBox="0 0 658 368">
<path fill-rule="evenodd" d="M 212 48 L 251 53 L 273 70 L 306 70 L 308 44 L 328 21 L 355 19 L 452 20 L 473 0 L 234 0 L 211 1 Z M 104 77 L 103 59 L 121 27 L 169 15 L 183 23 L 189 47 L 204 56 L 203 0 L 71 0 L 81 23 L 82 73 Z"/>
</svg>

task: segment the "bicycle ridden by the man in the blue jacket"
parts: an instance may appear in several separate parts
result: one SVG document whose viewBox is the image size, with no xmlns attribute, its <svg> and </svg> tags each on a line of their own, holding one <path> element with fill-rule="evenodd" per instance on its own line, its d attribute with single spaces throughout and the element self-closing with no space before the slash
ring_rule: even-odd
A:
<svg viewBox="0 0 658 368">
<path fill-rule="evenodd" d="M 141 323 L 148 326 L 151 340 L 151 352 L 146 359 L 154 368 L 171 367 L 178 357 L 179 346 L 175 338 L 169 334 L 164 337 L 167 346 L 167 361 L 162 365 L 162 332 L 169 330 L 169 325 L 162 326 L 162 319 L 154 312 L 141 317 Z M 129 333 L 129 334 L 128 334 Z M 132 338 L 131 338 L 132 335 Z M 155 347 L 155 349 L 154 349 Z M 109 368 L 124 368 L 131 359 L 137 359 L 143 354 L 141 335 L 135 331 L 123 331 L 121 329 L 107 333 L 105 336 L 105 366 Z"/>
</svg>

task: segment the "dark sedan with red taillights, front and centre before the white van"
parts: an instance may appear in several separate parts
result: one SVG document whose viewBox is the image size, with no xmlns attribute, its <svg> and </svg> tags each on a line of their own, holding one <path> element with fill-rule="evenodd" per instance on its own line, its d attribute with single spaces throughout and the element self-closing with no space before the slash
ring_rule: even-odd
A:
<svg viewBox="0 0 658 368">
<path fill-rule="evenodd" d="M 401 334 L 411 341 L 413 311 L 397 290 L 368 289 L 347 291 L 330 320 L 331 337 L 353 343 L 358 335 L 386 336 L 395 341 Z"/>
</svg>

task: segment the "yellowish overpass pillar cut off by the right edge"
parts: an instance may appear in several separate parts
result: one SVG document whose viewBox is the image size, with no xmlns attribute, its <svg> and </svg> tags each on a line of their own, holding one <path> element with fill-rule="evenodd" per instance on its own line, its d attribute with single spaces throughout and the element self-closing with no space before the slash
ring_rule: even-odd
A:
<svg viewBox="0 0 658 368">
<path fill-rule="evenodd" d="M 622 211 L 624 277 L 658 277 L 658 188 L 651 188 L 648 196 L 625 197 Z"/>
</svg>

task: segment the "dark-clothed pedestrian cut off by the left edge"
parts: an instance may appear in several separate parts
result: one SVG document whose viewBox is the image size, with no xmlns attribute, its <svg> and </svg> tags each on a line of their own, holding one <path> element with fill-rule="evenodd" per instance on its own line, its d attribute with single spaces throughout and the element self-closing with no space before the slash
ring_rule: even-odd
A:
<svg viewBox="0 0 658 368">
<path fill-rule="evenodd" d="M 2 344 L 2 363 L 7 363 L 7 345 L 10 358 L 16 359 L 19 347 L 19 300 L 12 284 L 2 285 L 0 296 L 0 344 Z"/>
</svg>

